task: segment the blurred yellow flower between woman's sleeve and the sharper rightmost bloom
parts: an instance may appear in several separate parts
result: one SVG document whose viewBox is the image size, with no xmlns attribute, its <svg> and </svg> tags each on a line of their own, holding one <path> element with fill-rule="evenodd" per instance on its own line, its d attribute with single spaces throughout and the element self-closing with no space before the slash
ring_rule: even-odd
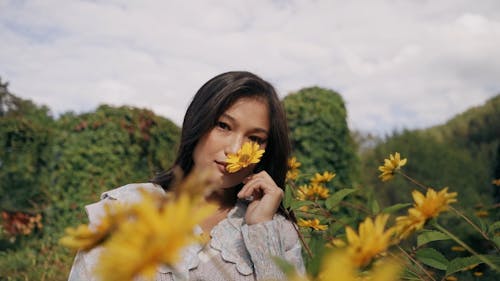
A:
<svg viewBox="0 0 500 281">
<path fill-rule="evenodd" d="M 359 224 L 357 234 L 351 227 L 346 227 L 347 251 L 358 267 L 367 265 L 373 257 L 385 252 L 394 233 L 393 228 L 385 229 L 389 215 L 378 215 L 373 221 L 366 218 Z"/>
</svg>

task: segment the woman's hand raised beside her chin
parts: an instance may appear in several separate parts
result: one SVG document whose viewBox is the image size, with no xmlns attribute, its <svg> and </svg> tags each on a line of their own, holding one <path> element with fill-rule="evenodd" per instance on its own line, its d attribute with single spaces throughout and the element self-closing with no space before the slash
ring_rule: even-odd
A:
<svg viewBox="0 0 500 281">
<path fill-rule="evenodd" d="M 253 197 L 245 215 L 246 223 L 250 225 L 272 220 L 283 199 L 283 189 L 266 171 L 246 177 L 243 183 L 238 198 Z"/>
</svg>

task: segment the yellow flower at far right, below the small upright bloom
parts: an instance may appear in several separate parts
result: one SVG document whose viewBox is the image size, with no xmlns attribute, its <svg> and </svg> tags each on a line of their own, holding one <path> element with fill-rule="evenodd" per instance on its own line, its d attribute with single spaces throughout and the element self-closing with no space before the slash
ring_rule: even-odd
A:
<svg viewBox="0 0 500 281">
<path fill-rule="evenodd" d="M 413 208 L 408 210 L 408 216 L 396 218 L 396 233 L 400 239 L 404 239 L 414 231 L 422 229 L 428 219 L 448 210 L 449 204 L 457 201 L 457 193 L 448 193 L 447 187 L 439 192 L 428 188 L 425 196 L 414 190 L 412 196 L 415 204 Z"/>
</svg>

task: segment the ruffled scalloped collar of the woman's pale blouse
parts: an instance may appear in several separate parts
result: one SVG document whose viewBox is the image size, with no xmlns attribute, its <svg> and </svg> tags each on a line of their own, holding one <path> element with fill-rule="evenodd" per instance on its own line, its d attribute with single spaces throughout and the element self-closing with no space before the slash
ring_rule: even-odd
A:
<svg viewBox="0 0 500 281">
<path fill-rule="evenodd" d="M 250 259 L 241 227 L 245 223 L 245 213 L 247 203 L 238 201 L 227 217 L 220 221 L 210 231 L 210 247 L 219 251 L 222 259 L 226 262 L 234 263 L 238 272 L 242 275 L 253 273 L 253 264 Z M 201 234 L 199 226 L 195 228 L 195 234 Z M 187 246 L 181 253 L 181 261 L 173 267 L 160 266 L 158 271 L 161 273 L 171 272 L 181 279 L 188 279 L 189 271 L 200 264 L 199 252 L 203 249 L 201 243 L 195 243 Z"/>
</svg>

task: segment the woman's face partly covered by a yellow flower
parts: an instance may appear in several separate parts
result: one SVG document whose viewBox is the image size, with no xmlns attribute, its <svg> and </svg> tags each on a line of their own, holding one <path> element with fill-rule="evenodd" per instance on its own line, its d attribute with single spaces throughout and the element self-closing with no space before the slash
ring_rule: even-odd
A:
<svg viewBox="0 0 500 281">
<path fill-rule="evenodd" d="M 243 143 L 257 142 L 266 148 L 269 137 L 269 109 L 265 101 L 257 97 L 238 99 L 229 107 L 196 145 L 193 153 L 196 169 L 214 171 L 215 181 L 220 188 L 233 187 L 252 173 L 256 164 L 236 173 L 226 171 L 226 158 L 236 153 Z"/>
</svg>

